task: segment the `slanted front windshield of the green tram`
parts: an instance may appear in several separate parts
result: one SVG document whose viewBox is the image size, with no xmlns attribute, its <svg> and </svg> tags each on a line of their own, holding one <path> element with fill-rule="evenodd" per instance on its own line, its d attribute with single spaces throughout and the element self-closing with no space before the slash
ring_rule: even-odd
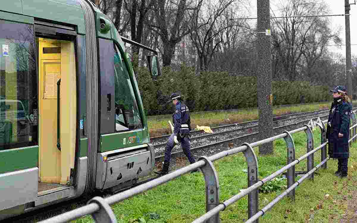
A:
<svg viewBox="0 0 357 223">
<path fill-rule="evenodd" d="M 115 130 L 123 127 L 130 130 L 142 128 L 142 120 L 137 108 L 136 98 L 129 78 L 128 69 L 119 49 L 114 45 L 115 67 Z"/>
</svg>

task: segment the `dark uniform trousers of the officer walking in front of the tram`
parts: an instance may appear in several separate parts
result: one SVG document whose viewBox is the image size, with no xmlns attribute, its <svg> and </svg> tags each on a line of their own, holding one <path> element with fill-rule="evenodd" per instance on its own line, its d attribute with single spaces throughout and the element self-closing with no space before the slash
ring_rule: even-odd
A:
<svg viewBox="0 0 357 223">
<path fill-rule="evenodd" d="M 185 137 L 183 137 L 183 138 L 180 137 L 180 135 L 178 134 L 177 141 L 181 143 L 182 151 L 187 156 L 188 161 L 190 161 L 191 164 L 194 163 L 195 159 L 191 155 L 190 138 L 188 137 L 188 134 L 186 134 Z M 167 143 L 166 143 L 164 163 L 167 163 L 167 164 L 170 163 L 171 150 L 172 150 L 172 148 L 174 148 L 175 145 L 176 145 L 176 143 L 174 141 L 174 133 L 172 133 L 169 138 L 169 141 L 167 141 Z"/>
</svg>

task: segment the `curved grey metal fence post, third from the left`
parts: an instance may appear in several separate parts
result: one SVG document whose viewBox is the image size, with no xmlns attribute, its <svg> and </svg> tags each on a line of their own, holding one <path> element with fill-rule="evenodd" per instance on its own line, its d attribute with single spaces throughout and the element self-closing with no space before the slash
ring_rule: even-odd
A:
<svg viewBox="0 0 357 223">
<path fill-rule="evenodd" d="M 248 166 L 248 187 L 252 186 L 258 181 L 258 161 L 249 143 L 243 143 L 247 149 L 243 152 L 246 157 Z M 253 190 L 248 194 L 248 219 L 253 217 L 258 212 L 258 189 Z M 258 223 L 258 220 L 254 221 Z"/>
</svg>

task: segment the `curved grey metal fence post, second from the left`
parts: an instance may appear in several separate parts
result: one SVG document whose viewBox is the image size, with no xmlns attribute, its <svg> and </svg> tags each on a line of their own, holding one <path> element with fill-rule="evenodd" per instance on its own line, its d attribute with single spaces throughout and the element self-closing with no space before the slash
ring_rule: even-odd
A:
<svg viewBox="0 0 357 223">
<path fill-rule="evenodd" d="M 206 162 L 206 165 L 201 167 L 203 176 L 205 177 L 206 184 L 206 212 L 215 208 L 219 202 L 219 182 L 218 175 L 215 167 L 212 162 L 206 157 L 201 156 L 198 160 L 203 159 Z M 219 223 L 220 214 L 217 213 L 206 221 L 207 223 Z"/>
</svg>

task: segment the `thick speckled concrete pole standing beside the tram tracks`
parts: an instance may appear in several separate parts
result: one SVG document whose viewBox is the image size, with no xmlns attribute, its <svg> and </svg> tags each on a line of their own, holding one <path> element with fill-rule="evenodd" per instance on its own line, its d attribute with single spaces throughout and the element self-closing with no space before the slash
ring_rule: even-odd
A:
<svg viewBox="0 0 357 223">
<path fill-rule="evenodd" d="M 257 91 L 260 140 L 273 136 L 273 95 L 271 93 L 270 0 L 257 0 Z M 273 143 L 259 146 L 260 154 L 272 154 Z"/>
</svg>

